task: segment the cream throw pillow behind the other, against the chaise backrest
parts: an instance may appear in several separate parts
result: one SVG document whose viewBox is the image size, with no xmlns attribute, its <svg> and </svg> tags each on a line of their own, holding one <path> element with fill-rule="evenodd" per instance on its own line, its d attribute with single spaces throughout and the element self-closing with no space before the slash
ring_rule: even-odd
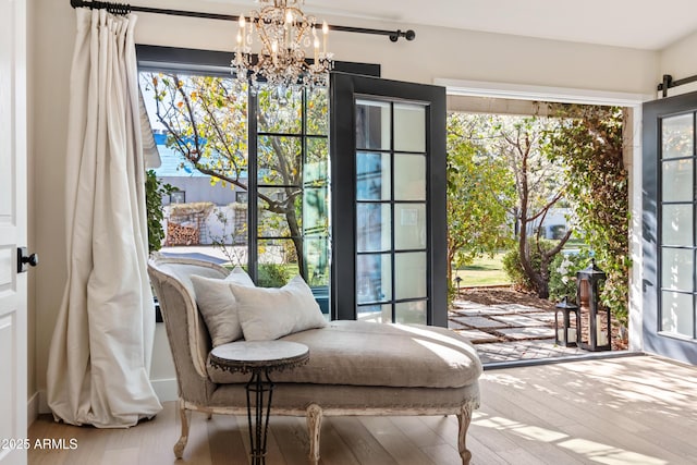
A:
<svg viewBox="0 0 697 465">
<path fill-rule="evenodd" d="M 198 311 L 206 321 L 213 347 L 242 339 L 237 303 L 231 284 L 254 287 L 252 278 L 235 267 L 225 279 L 192 276 Z"/>
</svg>

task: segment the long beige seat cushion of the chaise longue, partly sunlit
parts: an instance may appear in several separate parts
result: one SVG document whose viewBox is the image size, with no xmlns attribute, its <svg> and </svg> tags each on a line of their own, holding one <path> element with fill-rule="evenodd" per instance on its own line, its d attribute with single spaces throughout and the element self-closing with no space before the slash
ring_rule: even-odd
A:
<svg viewBox="0 0 697 465">
<path fill-rule="evenodd" d="M 271 372 L 274 382 L 380 386 L 393 388 L 461 388 L 481 375 L 475 347 L 445 328 L 331 321 L 327 328 L 286 335 L 282 341 L 309 347 L 302 367 Z M 246 382 L 249 375 L 231 374 L 207 364 L 217 383 Z"/>
</svg>

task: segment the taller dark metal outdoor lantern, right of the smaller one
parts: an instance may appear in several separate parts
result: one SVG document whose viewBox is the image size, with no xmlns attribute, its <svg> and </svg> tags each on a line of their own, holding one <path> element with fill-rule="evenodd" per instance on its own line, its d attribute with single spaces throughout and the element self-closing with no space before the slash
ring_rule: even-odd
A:
<svg viewBox="0 0 697 465">
<path fill-rule="evenodd" d="M 579 307 L 582 331 L 578 343 L 587 351 L 610 351 L 612 331 L 610 308 L 602 311 L 598 306 L 598 285 L 607 274 L 596 267 L 592 259 L 588 268 L 576 273 L 576 303 Z"/>
</svg>

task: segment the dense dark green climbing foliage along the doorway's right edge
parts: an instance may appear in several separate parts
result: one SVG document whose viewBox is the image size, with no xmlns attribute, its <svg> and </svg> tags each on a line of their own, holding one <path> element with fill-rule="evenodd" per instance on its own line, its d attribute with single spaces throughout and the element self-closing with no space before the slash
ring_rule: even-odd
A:
<svg viewBox="0 0 697 465">
<path fill-rule="evenodd" d="M 628 173 L 622 158 L 621 108 L 553 106 L 562 117 L 549 134 L 547 149 L 564 163 L 567 195 L 578 230 L 606 273 L 601 303 L 627 322 Z"/>
</svg>

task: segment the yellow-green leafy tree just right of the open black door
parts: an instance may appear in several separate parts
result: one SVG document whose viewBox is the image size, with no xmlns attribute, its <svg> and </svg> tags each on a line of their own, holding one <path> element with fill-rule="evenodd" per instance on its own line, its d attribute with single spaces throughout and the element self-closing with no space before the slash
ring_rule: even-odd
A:
<svg viewBox="0 0 697 465">
<path fill-rule="evenodd" d="M 482 117 L 448 117 L 448 282 L 452 270 L 505 247 L 513 180 L 480 144 Z"/>
</svg>

